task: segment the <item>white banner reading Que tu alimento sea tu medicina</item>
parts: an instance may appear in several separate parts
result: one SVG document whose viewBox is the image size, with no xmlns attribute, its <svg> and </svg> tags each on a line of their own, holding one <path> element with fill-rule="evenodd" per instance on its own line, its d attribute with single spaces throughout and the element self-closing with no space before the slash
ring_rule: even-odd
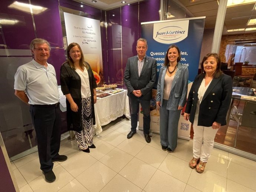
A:
<svg viewBox="0 0 256 192">
<path fill-rule="evenodd" d="M 93 70 L 96 83 L 103 83 L 102 49 L 100 22 L 96 19 L 82 17 L 64 12 L 66 37 L 64 48 L 70 43 L 78 43 L 83 51 L 85 61 Z"/>
</svg>

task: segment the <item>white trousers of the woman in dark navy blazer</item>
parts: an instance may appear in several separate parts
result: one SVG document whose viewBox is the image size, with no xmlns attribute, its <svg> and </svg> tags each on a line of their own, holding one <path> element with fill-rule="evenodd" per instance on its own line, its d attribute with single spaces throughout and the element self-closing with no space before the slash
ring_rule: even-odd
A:
<svg viewBox="0 0 256 192">
<path fill-rule="evenodd" d="M 213 149 L 214 138 L 218 129 L 212 127 L 198 126 L 198 113 L 195 114 L 194 118 L 194 140 L 193 140 L 193 156 L 194 158 L 202 162 L 207 162 L 210 158 L 211 149 Z M 202 144 L 204 140 L 204 144 Z M 203 148 L 202 148 L 203 145 Z"/>
</svg>

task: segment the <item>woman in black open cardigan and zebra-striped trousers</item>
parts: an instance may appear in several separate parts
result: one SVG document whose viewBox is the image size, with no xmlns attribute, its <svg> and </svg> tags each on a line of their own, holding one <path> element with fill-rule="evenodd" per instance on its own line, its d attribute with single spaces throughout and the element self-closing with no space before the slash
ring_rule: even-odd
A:
<svg viewBox="0 0 256 192">
<path fill-rule="evenodd" d="M 79 149 L 89 153 L 89 148 L 96 148 L 92 143 L 92 125 L 97 85 L 79 44 L 70 43 L 67 52 L 68 60 L 60 68 L 60 85 L 66 96 L 68 130 L 75 131 Z"/>
</svg>

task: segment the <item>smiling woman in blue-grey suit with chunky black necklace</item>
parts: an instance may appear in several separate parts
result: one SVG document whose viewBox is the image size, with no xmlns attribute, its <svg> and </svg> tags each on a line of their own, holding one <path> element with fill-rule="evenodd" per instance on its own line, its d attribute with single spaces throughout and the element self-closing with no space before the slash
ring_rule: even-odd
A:
<svg viewBox="0 0 256 192">
<path fill-rule="evenodd" d="M 162 149 L 167 152 L 173 152 L 177 146 L 178 122 L 187 99 L 188 68 L 179 61 L 180 49 L 171 45 L 166 52 L 157 84 L 160 142 Z"/>
</svg>

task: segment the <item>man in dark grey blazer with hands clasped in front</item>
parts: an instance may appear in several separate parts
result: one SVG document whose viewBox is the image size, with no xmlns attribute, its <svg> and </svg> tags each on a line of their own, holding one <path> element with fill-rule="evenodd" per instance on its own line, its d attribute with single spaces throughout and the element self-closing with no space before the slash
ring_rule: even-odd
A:
<svg viewBox="0 0 256 192">
<path fill-rule="evenodd" d="M 124 82 L 128 89 L 127 95 L 131 107 L 131 131 L 128 133 L 127 138 L 132 138 L 136 133 L 138 110 L 141 104 L 143 132 L 146 142 L 150 143 L 150 100 L 152 98 L 151 90 L 156 81 L 157 62 L 146 55 L 148 50 L 146 39 L 138 39 L 136 50 L 138 55 L 128 59 L 124 72 Z"/>
</svg>

